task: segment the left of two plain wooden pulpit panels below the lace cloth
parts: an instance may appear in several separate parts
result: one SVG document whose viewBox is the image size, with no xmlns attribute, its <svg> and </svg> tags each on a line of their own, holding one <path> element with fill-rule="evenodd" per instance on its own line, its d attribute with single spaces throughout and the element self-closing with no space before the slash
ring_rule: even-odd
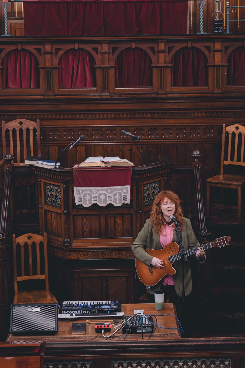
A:
<svg viewBox="0 0 245 368">
<path fill-rule="evenodd" d="M 73 238 L 100 238 L 100 216 L 73 216 Z"/>
</svg>

